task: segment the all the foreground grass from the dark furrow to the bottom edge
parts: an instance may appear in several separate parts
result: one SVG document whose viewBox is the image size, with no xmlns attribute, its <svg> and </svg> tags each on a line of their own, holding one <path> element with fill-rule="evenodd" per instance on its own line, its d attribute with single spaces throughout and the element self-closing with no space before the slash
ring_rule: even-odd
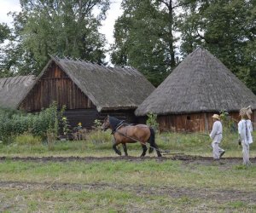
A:
<svg viewBox="0 0 256 213">
<path fill-rule="evenodd" d="M 144 160 L 139 163 L 27 163 L 6 160 L 0 164 L 0 176 L 1 181 L 32 184 L 30 187 L 1 187 L 2 202 L 5 206 L 9 205 L 10 212 L 256 210 L 255 203 L 242 196 L 237 199 L 237 194 L 233 193 L 255 195 L 255 166 L 242 170 L 232 166 L 223 172 L 221 165 L 195 167 L 195 164 L 171 160 Z M 43 185 L 34 186 L 34 183 Z M 55 183 L 67 185 L 51 188 Z M 68 187 L 72 184 L 82 186 L 81 190 Z M 218 196 L 227 193 L 230 199 L 212 199 L 212 192 Z"/>
</svg>

